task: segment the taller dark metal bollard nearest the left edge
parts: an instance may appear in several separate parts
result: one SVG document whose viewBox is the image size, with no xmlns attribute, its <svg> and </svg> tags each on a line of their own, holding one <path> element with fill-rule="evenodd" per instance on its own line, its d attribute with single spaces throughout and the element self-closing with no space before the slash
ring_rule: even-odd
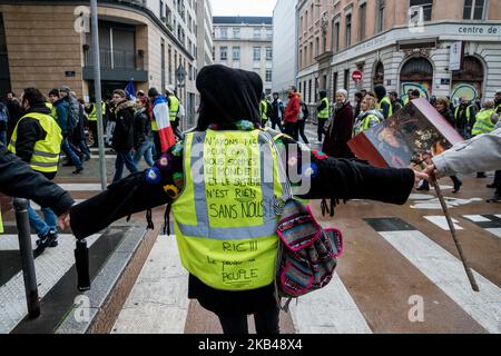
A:
<svg viewBox="0 0 501 356">
<path fill-rule="evenodd" d="M 28 200 L 14 198 L 16 222 L 18 225 L 19 250 L 21 253 L 22 277 L 24 278 L 26 303 L 28 315 L 36 318 L 40 315 L 37 276 L 35 274 L 33 250 L 31 247 L 31 230 L 28 219 Z"/>
</svg>

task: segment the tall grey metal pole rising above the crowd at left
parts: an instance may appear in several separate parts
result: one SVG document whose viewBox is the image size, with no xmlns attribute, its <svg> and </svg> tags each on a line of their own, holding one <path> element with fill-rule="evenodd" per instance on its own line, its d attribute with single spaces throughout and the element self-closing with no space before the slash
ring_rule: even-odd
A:
<svg viewBox="0 0 501 356">
<path fill-rule="evenodd" d="M 99 145 L 99 167 L 101 172 L 101 189 L 106 190 L 108 179 L 106 175 L 105 159 L 105 127 L 102 123 L 101 106 L 101 65 L 99 61 L 99 29 L 98 29 L 98 7 L 97 0 L 90 0 L 90 13 L 92 22 L 92 56 L 94 56 L 94 92 L 96 96 L 96 109 L 98 115 L 98 145 Z"/>
</svg>

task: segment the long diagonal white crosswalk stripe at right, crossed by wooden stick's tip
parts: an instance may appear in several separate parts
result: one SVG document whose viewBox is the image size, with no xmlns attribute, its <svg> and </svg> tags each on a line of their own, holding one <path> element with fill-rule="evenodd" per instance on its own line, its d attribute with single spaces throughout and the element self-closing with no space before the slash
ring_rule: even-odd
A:
<svg viewBox="0 0 501 356">
<path fill-rule="evenodd" d="M 480 287 L 473 291 L 462 263 L 418 230 L 379 234 L 489 333 L 501 333 L 498 286 L 472 270 Z"/>
</svg>

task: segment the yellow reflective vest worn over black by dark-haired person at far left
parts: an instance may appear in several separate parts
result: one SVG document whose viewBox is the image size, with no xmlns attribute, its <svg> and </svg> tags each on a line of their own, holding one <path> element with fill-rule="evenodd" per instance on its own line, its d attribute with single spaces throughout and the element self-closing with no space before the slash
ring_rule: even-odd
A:
<svg viewBox="0 0 501 356">
<path fill-rule="evenodd" d="M 43 131 L 47 132 L 43 140 L 35 142 L 33 155 L 31 156 L 31 161 L 29 162 L 31 169 L 46 174 L 58 171 L 59 154 L 61 152 L 62 141 L 61 128 L 51 116 L 46 113 L 30 112 L 24 115 L 19 122 L 21 122 L 24 118 L 38 120 Z M 8 147 L 8 149 L 14 155 L 19 122 L 12 132 L 12 138 L 10 139 Z"/>
</svg>

